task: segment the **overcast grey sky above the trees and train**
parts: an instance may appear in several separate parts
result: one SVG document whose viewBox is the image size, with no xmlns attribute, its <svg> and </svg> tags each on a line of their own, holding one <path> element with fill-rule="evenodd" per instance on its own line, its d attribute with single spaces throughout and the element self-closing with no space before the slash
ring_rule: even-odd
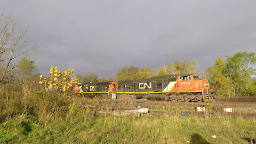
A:
<svg viewBox="0 0 256 144">
<path fill-rule="evenodd" d="M 29 30 L 40 73 L 52 65 L 76 74 L 115 76 L 123 66 L 158 69 L 256 52 L 256 1 L 0 0 Z"/>
</svg>

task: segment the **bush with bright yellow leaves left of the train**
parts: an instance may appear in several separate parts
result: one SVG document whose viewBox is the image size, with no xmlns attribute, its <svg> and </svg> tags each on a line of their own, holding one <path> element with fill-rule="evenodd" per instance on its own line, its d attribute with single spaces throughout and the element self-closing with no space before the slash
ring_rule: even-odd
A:
<svg viewBox="0 0 256 144">
<path fill-rule="evenodd" d="M 49 80 L 44 75 L 40 75 L 41 81 L 39 84 L 45 86 L 53 91 L 67 91 L 72 89 L 73 85 L 77 83 L 77 77 L 70 77 L 74 75 L 74 69 L 68 69 L 67 71 L 61 71 L 55 66 L 50 69 Z"/>
</svg>

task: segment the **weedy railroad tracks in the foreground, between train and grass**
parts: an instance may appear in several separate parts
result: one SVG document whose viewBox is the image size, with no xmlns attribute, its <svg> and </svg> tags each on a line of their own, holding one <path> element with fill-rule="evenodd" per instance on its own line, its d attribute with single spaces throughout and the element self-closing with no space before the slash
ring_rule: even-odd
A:
<svg viewBox="0 0 256 144">
<path fill-rule="evenodd" d="M 227 116 L 256 117 L 256 103 L 253 102 L 171 102 L 146 99 L 101 99 L 98 105 L 82 105 L 100 113 L 133 113 L 136 109 L 148 109 L 148 116 Z M 227 110 L 228 109 L 228 110 Z"/>
</svg>

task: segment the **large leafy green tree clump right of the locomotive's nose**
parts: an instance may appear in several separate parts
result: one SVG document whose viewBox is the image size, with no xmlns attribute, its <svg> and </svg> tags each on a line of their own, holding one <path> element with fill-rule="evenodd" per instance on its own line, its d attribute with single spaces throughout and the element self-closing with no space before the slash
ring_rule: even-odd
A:
<svg viewBox="0 0 256 144">
<path fill-rule="evenodd" d="M 255 53 L 238 52 L 226 61 L 216 59 L 204 76 L 214 85 L 218 95 L 253 95 L 256 94 L 255 63 Z"/>
</svg>

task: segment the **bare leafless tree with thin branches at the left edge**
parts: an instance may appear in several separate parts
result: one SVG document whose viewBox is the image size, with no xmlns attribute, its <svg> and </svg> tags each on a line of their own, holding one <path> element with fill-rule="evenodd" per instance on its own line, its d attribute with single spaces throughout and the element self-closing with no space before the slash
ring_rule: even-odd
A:
<svg viewBox="0 0 256 144">
<path fill-rule="evenodd" d="M 0 12 L 0 84 L 8 82 L 18 59 L 33 53 L 36 46 L 28 46 L 26 29 L 19 27 L 10 15 Z"/>
</svg>

